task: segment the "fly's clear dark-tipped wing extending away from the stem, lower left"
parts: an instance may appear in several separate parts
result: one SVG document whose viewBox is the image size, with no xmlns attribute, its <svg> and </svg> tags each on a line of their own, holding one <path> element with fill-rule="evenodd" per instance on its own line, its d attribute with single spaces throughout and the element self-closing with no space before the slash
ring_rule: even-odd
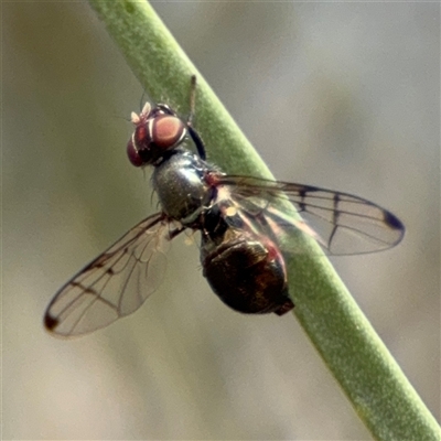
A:
<svg viewBox="0 0 441 441">
<path fill-rule="evenodd" d="M 55 294 L 44 315 L 46 329 L 80 335 L 131 314 L 162 281 L 169 240 L 163 214 L 138 224 Z"/>
</svg>

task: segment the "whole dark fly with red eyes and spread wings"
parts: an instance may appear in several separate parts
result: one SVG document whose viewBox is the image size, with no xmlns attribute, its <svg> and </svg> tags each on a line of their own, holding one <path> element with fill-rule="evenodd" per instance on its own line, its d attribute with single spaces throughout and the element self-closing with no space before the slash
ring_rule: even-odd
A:
<svg viewBox="0 0 441 441">
<path fill-rule="evenodd" d="M 192 85 L 194 104 L 195 77 Z M 153 166 L 161 212 L 135 226 L 60 289 L 45 312 L 49 331 L 79 335 L 136 311 L 162 280 L 164 244 L 185 229 L 201 232 L 203 275 L 227 305 L 279 315 L 293 308 L 283 258 L 298 252 L 284 240 L 290 235 L 312 236 L 330 254 L 378 251 L 401 240 L 401 222 L 369 201 L 224 174 L 205 161 L 192 115 L 183 121 L 170 107 L 150 104 L 140 115 L 132 114 L 128 157 L 136 166 Z M 197 154 L 183 147 L 186 138 Z M 293 203 L 302 215 L 319 220 L 318 229 L 288 215 L 278 202 Z"/>
</svg>

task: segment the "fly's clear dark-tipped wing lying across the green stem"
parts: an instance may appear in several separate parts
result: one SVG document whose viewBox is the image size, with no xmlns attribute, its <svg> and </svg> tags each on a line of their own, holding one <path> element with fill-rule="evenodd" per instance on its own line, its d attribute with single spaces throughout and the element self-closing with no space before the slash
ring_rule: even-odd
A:
<svg viewBox="0 0 441 441">
<path fill-rule="evenodd" d="M 331 255 L 380 251 L 397 245 L 405 234 L 405 226 L 392 213 L 347 193 L 251 176 L 225 175 L 218 184 L 227 186 L 237 208 L 245 209 L 248 218 L 254 216 L 265 233 L 277 239 L 300 230 Z M 277 201 L 294 204 L 305 222 L 279 209 Z"/>
</svg>

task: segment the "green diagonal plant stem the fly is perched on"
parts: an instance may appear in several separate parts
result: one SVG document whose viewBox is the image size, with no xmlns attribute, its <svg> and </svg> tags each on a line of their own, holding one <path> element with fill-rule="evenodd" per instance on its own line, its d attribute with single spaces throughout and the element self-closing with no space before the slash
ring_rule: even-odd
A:
<svg viewBox="0 0 441 441">
<path fill-rule="evenodd" d="M 89 0 L 140 83 L 155 101 L 189 111 L 196 74 L 195 127 L 209 160 L 229 173 L 271 178 L 150 4 Z M 306 244 L 314 247 L 314 244 Z M 440 440 L 440 428 L 324 257 L 289 259 L 294 314 L 359 418 L 378 440 Z"/>
</svg>

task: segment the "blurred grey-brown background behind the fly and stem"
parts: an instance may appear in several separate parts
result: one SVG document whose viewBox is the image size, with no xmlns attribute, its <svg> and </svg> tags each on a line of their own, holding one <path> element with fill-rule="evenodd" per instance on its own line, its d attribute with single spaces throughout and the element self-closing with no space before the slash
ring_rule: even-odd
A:
<svg viewBox="0 0 441 441">
<path fill-rule="evenodd" d="M 397 248 L 333 262 L 439 418 L 440 6 L 154 8 L 278 179 L 404 220 Z M 86 3 L 2 10 L 3 439 L 370 439 L 294 318 L 230 311 L 178 240 L 135 315 L 44 332 L 55 291 L 154 209 L 126 158 L 142 88 Z"/>
</svg>

